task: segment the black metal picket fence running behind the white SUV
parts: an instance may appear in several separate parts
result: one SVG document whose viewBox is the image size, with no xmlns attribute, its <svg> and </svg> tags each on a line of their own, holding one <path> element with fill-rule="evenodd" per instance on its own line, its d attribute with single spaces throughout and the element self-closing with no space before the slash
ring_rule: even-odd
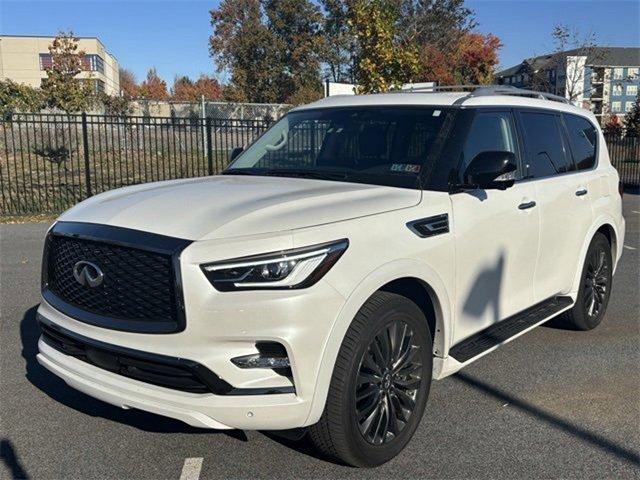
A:
<svg viewBox="0 0 640 480">
<path fill-rule="evenodd" d="M 0 215 L 60 212 L 96 193 L 220 172 L 267 120 L 18 114 L 0 120 Z M 305 136 L 315 138 L 312 136 Z M 613 165 L 640 188 L 640 139 L 607 138 Z"/>
</svg>

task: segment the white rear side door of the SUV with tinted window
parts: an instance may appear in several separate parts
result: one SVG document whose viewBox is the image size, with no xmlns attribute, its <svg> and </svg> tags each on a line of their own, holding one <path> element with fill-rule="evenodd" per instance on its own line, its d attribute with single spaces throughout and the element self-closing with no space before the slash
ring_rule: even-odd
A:
<svg viewBox="0 0 640 480">
<path fill-rule="evenodd" d="M 535 188 L 540 214 L 540 246 L 534 299 L 540 302 L 570 291 L 578 256 L 591 225 L 585 178 L 571 155 L 560 113 L 520 110 L 526 152 L 526 180 Z"/>
</svg>

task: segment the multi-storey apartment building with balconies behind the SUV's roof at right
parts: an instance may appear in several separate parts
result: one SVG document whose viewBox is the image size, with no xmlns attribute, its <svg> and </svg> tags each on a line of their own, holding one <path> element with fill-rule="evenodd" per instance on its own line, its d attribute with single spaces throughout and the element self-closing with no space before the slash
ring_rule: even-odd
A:
<svg viewBox="0 0 640 480">
<path fill-rule="evenodd" d="M 607 114 L 623 118 L 640 88 L 640 48 L 595 47 L 528 58 L 496 79 L 562 95 L 601 119 Z"/>
</svg>

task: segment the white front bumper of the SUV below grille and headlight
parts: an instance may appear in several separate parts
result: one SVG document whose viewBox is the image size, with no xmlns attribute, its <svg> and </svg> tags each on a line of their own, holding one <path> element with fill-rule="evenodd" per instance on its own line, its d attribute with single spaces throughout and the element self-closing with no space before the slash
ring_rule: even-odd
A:
<svg viewBox="0 0 640 480">
<path fill-rule="evenodd" d="M 191 393 L 128 378 L 66 355 L 42 339 L 38 361 L 71 387 L 92 397 L 122 408 L 175 418 L 195 427 L 277 430 L 313 423 L 310 411 L 318 372 L 344 298 L 322 281 L 304 291 L 216 296 L 215 310 L 207 309 L 207 302 L 199 302 L 200 308 L 188 315 L 185 331 L 171 335 L 138 334 L 89 325 L 68 317 L 45 301 L 38 313 L 50 324 L 87 339 L 197 362 L 230 384 L 232 394 Z M 286 348 L 291 379 L 269 369 L 241 369 L 231 362 L 231 358 L 256 353 L 255 342 L 265 340 L 279 342 Z M 282 393 L 290 392 L 292 386 L 294 393 Z"/>
</svg>

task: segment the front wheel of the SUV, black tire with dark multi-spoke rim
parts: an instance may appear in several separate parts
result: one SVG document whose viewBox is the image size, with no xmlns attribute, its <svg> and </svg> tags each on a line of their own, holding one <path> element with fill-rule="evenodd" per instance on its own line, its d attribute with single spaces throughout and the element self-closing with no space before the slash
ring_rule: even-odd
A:
<svg viewBox="0 0 640 480">
<path fill-rule="evenodd" d="M 424 413 L 431 345 L 427 320 L 415 303 L 394 293 L 372 295 L 345 335 L 324 412 L 309 428 L 316 449 L 356 467 L 381 465 L 398 455 Z"/>
</svg>

